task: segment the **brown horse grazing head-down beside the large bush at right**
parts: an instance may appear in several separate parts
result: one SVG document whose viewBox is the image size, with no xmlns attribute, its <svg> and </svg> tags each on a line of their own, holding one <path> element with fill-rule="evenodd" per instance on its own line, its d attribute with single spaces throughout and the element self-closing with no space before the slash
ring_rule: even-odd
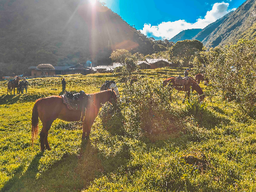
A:
<svg viewBox="0 0 256 192">
<path fill-rule="evenodd" d="M 187 94 L 185 95 L 185 97 L 183 99 L 183 103 L 185 102 L 186 97 L 188 99 L 190 99 L 190 87 L 192 87 L 192 91 L 195 90 L 199 94 L 199 101 L 203 101 L 203 99 L 205 98 L 205 94 L 203 93 L 203 90 L 198 85 L 198 83 L 195 82 L 195 80 L 193 78 L 190 77 L 189 83 L 187 83 L 187 85 L 184 85 L 184 86 L 176 84 L 175 78 L 176 77 L 171 77 L 171 78 L 165 79 L 163 81 L 163 86 L 169 85 L 170 87 L 174 87 L 174 89 L 176 89 L 178 91 L 186 91 Z"/>
</svg>

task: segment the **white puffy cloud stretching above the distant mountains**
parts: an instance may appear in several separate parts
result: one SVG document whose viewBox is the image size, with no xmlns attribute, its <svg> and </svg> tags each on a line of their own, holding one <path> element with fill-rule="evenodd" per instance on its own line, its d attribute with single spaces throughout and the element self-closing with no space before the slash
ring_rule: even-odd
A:
<svg viewBox="0 0 256 192">
<path fill-rule="evenodd" d="M 141 31 L 142 34 L 147 37 L 155 37 L 157 39 L 171 39 L 179 32 L 186 29 L 203 29 L 210 23 L 215 22 L 217 19 L 222 18 L 230 11 L 234 11 L 236 8 L 228 10 L 229 3 L 214 3 L 213 8 L 207 11 L 205 17 L 197 19 L 195 23 L 188 23 L 184 19 L 178 21 L 162 22 L 158 26 L 151 26 L 150 23 L 145 23 Z"/>
</svg>

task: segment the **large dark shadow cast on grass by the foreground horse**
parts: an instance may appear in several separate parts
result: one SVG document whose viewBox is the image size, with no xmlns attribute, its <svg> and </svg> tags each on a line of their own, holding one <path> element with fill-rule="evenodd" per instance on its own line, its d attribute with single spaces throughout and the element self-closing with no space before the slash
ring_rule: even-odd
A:
<svg viewBox="0 0 256 192">
<path fill-rule="evenodd" d="M 43 153 L 35 155 L 26 172 L 20 166 L 2 191 L 81 191 L 103 171 L 97 149 L 83 140 L 79 154 L 63 154 L 62 158 L 39 174 Z M 42 161 L 42 160 L 41 160 Z M 38 176 L 39 174 L 39 176 Z"/>
</svg>

